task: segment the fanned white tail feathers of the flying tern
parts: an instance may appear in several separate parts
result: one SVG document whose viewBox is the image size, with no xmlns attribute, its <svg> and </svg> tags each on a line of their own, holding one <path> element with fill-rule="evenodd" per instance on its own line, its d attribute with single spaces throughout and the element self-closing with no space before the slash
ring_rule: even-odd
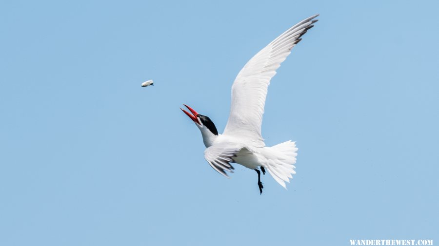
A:
<svg viewBox="0 0 439 246">
<path fill-rule="evenodd" d="M 295 174 L 296 167 L 293 165 L 296 163 L 296 156 L 298 148 L 296 148 L 296 142 L 291 140 L 280 143 L 273 147 L 265 147 L 263 151 L 263 167 L 265 167 L 271 176 L 281 185 L 285 187 L 285 182 L 290 182 L 290 178 L 293 178 L 292 174 Z"/>
</svg>

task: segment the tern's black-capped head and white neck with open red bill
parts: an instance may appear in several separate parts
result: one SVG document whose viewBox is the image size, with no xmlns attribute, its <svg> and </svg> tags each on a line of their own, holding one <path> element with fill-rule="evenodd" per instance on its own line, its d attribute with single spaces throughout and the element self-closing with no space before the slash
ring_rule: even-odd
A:
<svg viewBox="0 0 439 246">
<path fill-rule="evenodd" d="M 218 130 L 217 127 L 215 127 L 215 124 L 212 122 L 212 120 L 202 114 L 198 114 L 197 111 L 193 110 L 191 107 L 187 106 L 186 104 L 183 104 L 186 106 L 186 108 L 192 113 L 189 113 L 185 111 L 184 109 L 180 108 L 184 114 L 189 116 L 192 121 L 194 121 L 195 125 L 200 129 L 201 135 L 203 136 L 203 142 L 206 147 L 209 147 L 213 144 L 213 141 L 218 137 Z"/>
</svg>

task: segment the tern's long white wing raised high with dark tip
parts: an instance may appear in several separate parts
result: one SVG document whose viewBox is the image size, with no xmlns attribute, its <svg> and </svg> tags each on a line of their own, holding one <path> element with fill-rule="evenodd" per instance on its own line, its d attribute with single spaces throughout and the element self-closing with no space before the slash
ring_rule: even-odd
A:
<svg viewBox="0 0 439 246">
<path fill-rule="evenodd" d="M 223 134 L 239 136 L 255 146 L 264 146 L 260 126 L 270 79 L 300 37 L 314 26 L 317 19 L 313 19 L 317 16 L 304 19 L 288 29 L 241 69 L 232 85 L 230 115 Z"/>
</svg>

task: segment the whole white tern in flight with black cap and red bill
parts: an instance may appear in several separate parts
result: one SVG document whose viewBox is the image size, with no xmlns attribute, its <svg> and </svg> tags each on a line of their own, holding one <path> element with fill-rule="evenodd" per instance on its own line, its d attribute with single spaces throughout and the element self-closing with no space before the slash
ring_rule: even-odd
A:
<svg viewBox="0 0 439 246">
<path fill-rule="evenodd" d="M 209 117 L 181 109 L 200 129 L 206 150 L 204 158 L 220 174 L 228 177 L 235 169 L 230 163 L 238 163 L 258 173 L 259 192 L 262 194 L 260 171 L 265 170 L 282 186 L 295 174 L 298 148 L 291 140 L 266 147 L 261 135 L 262 114 L 270 79 L 276 75 L 280 63 L 291 53 L 319 15 L 304 19 L 274 39 L 252 57 L 241 69 L 232 85 L 232 102 L 229 120 L 224 133 L 219 134 Z"/>
</svg>

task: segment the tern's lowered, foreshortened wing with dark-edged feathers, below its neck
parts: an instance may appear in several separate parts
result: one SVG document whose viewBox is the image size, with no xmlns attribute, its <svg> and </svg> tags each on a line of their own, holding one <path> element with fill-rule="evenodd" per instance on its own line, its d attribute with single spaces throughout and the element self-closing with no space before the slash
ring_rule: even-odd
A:
<svg viewBox="0 0 439 246">
<path fill-rule="evenodd" d="M 242 148 L 236 143 L 220 143 L 214 144 L 204 151 L 204 159 L 209 165 L 221 173 L 225 177 L 229 177 L 225 171 L 233 172 L 235 169 L 230 162 L 233 162 L 233 157 Z"/>
</svg>

